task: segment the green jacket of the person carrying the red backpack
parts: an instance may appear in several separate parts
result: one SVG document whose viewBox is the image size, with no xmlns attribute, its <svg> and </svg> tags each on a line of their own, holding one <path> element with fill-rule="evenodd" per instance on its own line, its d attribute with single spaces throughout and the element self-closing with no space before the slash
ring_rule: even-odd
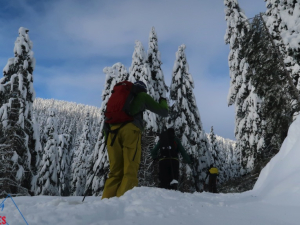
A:
<svg viewBox="0 0 300 225">
<path fill-rule="evenodd" d="M 130 114 L 134 117 L 133 124 L 141 130 L 143 126 L 143 112 L 150 110 L 162 117 L 168 116 L 168 104 L 166 99 L 160 99 L 157 103 L 150 95 L 140 92 L 130 104 Z"/>
</svg>

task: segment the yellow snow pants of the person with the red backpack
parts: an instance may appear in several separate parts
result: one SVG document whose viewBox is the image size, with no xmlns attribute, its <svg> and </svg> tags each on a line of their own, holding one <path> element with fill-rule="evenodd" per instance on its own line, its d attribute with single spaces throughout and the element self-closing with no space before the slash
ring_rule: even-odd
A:
<svg viewBox="0 0 300 225">
<path fill-rule="evenodd" d="M 120 125 L 113 125 L 111 130 Z M 109 133 L 107 151 L 110 172 L 105 182 L 103 198 L 120 197 L 126 191 L 138 185 L 138 170 L 141 161 L 141 130 L 133 123 L 120 128 L 113 146 L 110 146 L 115 134 Z"/>
</svg>

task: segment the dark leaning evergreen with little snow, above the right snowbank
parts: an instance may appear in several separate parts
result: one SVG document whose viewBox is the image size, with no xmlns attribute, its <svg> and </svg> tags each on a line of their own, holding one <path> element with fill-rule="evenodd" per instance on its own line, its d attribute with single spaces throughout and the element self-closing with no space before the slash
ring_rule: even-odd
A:
<svg viewBox="0 0 300 225">
<path fill-rule="evenodd" d="M 299 93 L 285 65 L 284 51 L 280 50 L 283 46 L 276 44 L 274 37 L 264 19 L 256 16 L 251 31 L 244 38 L 245 44 L 241 51 L 250 65 L 255 93 L 262 99 L 259 104 L 260 114 L 265 120 L 261 126 L 264 141 L 259 141 L 258 146 L 267 147 L 266 150 L 258 152 L 259 160 L 272 157 L 279 150 L 299 105 L 293 105 L 294 101 L 299 101 Z M 276 39 L 277 43 L 282 43 L 280 35 Z M 266 155 L 270 152 L 271 155 Z"/>
</svg>

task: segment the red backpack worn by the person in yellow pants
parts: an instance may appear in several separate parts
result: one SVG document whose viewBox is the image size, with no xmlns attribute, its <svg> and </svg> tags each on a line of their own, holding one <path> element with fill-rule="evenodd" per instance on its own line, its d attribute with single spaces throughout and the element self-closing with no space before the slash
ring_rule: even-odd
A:
<svg viewBox="0 0 300 225">
<path fill-rule="evenodd" d="M 129 113 L 129 104 L 134 98 L 133 83 L 122 81 L 114 86 L 105 111 L 105 123 L 117 124 L 133 121 Z"/>
</svg>

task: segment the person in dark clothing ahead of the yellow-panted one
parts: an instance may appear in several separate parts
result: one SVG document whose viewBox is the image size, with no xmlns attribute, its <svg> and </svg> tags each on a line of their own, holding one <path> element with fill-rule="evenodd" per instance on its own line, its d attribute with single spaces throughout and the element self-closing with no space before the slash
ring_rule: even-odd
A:
<svg viewBox="0 0 300 225">
<path fill-rule="evenodd" d="M 179 152 L 182 155 L 184 162 L 191 163 L 189 155 L 186 153 L 179 139 L 175 136 L 174 129 L 169 128 L 162 132 L 158 143 L 151 151 L 153 159 L 159 158 L 159 187 L 177 190 L 179 177 Z"/>
</svg>

